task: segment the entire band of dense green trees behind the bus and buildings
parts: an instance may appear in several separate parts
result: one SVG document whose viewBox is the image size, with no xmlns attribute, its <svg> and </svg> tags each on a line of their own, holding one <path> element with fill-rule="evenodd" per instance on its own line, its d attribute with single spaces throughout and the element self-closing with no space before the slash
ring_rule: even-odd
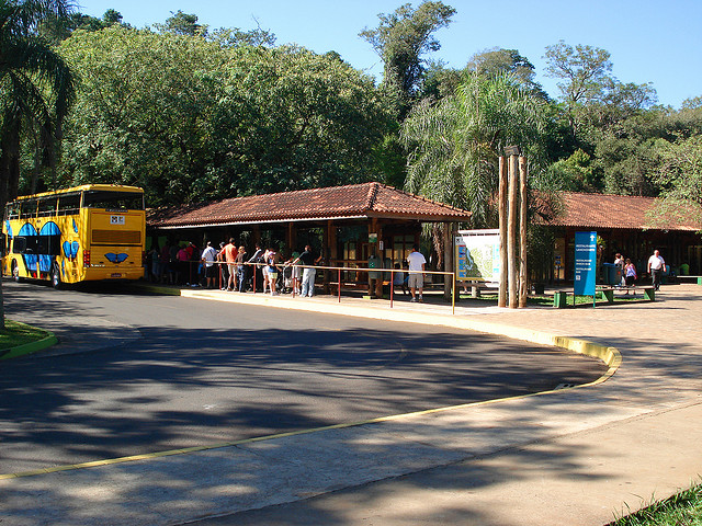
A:
<svg viewBox="0 0 702 526">
<path fill-rule="evenodd" d="M 537 190 L 702 205 L 702 98 L 659 105 L 612 76 L 607 50 L 565 42 L 544 50 L 555 94 L 518 49 L 461 70 L 426 60 L 454 14 L 424 1 L 359 28 L 384 64 L 374 79 L 274 28 L 212 31 L 179 11 L 137 30 L 115 10 L 0 0 L 0 188 L 131 184 L 161 206 L 373 180 L 487 226 L 497 157 L 518 145 Z"/>
</svg>

